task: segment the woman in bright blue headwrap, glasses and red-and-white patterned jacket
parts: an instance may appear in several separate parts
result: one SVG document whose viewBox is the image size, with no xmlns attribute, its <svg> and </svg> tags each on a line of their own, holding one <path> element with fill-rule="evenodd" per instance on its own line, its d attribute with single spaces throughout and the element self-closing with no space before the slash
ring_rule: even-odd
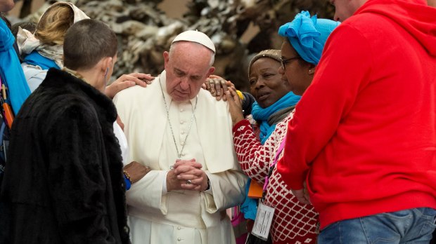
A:
<svg viewBox="0 0 436 244">
<path fill-rule="evenodd" d="M 287 37 L 281 50 L 278 72 L 288 80 L 290 90 L 301 95 L 309 86 L 319 62 L 327 36 L 339 25 L 332 20 L 310 17 L 307 11 L 295 16 L 293 22 L 280 27 L 279 34 Z M 283 48 L 284 47 L 284 48 Z M 262 144 L 256 139 L 250 122 L 241 116 L 241 102 L 233 88 L 226 92 L 233 119 L 233 140 L 241 168 L 250 178 L 264 184 L 264 202 L 274 208 L 271 229 L 273 243 L 316 243 L 318 214 L 312 205 L 297 201 L 276 170 L 282 156 L 284 137 L 290 113 L 276 124 L 274 131 Z M 267 183 L 265 183 L 267 182 Z"/>
</svg>

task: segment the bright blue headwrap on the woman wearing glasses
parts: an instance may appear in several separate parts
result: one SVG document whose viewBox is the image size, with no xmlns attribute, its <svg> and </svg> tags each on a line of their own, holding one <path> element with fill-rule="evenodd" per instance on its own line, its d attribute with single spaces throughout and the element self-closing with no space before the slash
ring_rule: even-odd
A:
<svg viewBox="0 0 436 244">
<path fill-rule="evenodd" d="M 292 22 L 282 25 L 278 34 L 288 38 L 290 44 L 303 60 L 318 65 L 327 37 L 340 22 L 310 17 L 309 12 L 301 11 Z"/>
</svg>

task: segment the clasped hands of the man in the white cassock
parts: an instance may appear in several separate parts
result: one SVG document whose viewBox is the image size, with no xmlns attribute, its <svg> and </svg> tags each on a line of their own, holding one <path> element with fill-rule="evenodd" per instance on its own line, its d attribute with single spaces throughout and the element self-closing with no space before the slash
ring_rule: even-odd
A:
<svg viewBox="0 0 436 244">
<path fill-rule="evenodd" d="M 194 158 L 191 160 L 178 159 L 167 174 L 167 191 L 205 191 L 207 189 L 207 175 L 201 168 L 203 165 L 196 162 Z"/>
</svg>

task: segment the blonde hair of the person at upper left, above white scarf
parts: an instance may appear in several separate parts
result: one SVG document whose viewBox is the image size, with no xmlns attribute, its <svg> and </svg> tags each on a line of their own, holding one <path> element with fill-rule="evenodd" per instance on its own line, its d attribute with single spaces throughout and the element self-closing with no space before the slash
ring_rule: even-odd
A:
<svg viewBox="0 0 436 244">
<path fill-rule="evenodd" d="M 65 34 L 73 23 L 72 8 L 68 4 L 56 4 L 41 16 L 34 36 L 49 45 L 63 45 Z"/>
</svg>

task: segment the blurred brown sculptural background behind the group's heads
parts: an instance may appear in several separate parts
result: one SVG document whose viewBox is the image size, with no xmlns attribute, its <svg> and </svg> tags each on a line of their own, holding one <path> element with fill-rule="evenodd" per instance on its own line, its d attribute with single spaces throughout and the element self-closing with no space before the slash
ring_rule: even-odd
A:
<svg viewBox="0 0 436 244">
<path fill-rule="evenodd" d="M 37 22 L 56 1 L 21 0 L 7 13 L 12 23 Z M 113 76 L 143 72 L 157 76 L 162 53 L 177 34 L 205 32 L 217 48 L 215 74 L 248 90 L 248 63 L 260 50 L 280 49 L 278 27 L 302 10 L 333 19 L 328 0 L 71 0 L 90 18 L 106 22 L 117 34 L 118 61 Z"/>
</svg>

